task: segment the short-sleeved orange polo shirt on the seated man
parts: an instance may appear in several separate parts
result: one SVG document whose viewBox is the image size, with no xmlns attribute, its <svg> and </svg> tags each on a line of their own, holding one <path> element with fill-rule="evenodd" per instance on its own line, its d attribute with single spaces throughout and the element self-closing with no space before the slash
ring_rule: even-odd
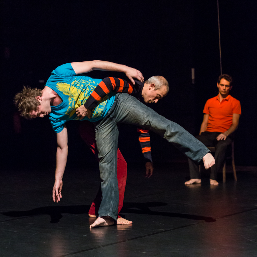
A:
<svg viewBox="0 0 257 257">
<path fill-rule="evenodd" d="M 241 114 L 240 102 L 228 95 L 220 103 L 219 96 L 207 100 L 203 113 L 209 115 L 206 131 L 224 133 L 232 125 L 233 114 Z"/>
</svg>

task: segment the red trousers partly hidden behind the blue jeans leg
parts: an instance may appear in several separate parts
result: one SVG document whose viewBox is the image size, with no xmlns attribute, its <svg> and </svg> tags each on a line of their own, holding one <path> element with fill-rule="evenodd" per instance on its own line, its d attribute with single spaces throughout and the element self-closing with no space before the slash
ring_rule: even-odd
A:
<svg viewBox="0 0 257 257">
<path fill-rule="evenodd" d="M 98 151 L 97 151 L 97 148 L 95 148 L 96 142 L 95 142 L 95 130 L 94 130 L 93 124 L 89 121 L 81 121 L 79 126 L 79 134 L 82 137 L 82 139 L 86 142 L 86 144 L 90 147 L 90 149 L 95 155 L 95 158 L 99 161 Z M 118 148 L 117 154 L 118 154 L 117 178 L 118 178 L 118 186 L 119 186 L 118 213 L 120 213 L 121 208 L 123 206 L 124 192 L 125 192 L 126 181 L 127 181 L 127 162 L 122 156 L 119 148 Z M 97 192 L 97 196 L 95 197 L 95 200 L 93 201 L 89 209 L 89 212 L 88 212 L 89 214 L 97 216 L 98 210 L 101 204 L 101 200 L 102 200 L 102 191 L 100 186 Z M 121 216 L 118 216 L 118 218 L 120 217 Z"/>
</svg>

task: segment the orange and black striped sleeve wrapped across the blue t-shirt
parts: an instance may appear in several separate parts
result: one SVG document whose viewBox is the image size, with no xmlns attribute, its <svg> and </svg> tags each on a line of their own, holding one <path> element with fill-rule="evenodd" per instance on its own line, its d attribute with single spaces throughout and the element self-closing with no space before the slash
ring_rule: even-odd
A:
<svg viewBox="0 0 257 257">
<path fill-rule="evenodd" d="M 84 106 L 93 110 L 98 103 L 109 94 L 111 91 L 115 91 L 117 93 L 128 93 L 129 95 L 133 92 L 133 84 L 131 81 L 126 81 L 123 79 L 118 79 L 114 77 L 104 78 L 89 96 Z"/>
</svg>

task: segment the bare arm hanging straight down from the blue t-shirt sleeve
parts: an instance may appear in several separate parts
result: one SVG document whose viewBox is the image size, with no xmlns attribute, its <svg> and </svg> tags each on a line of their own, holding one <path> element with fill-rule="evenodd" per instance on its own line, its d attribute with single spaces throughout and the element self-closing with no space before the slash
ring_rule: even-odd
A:
<svg viewBox="0 0 257 257">
<path fill-rule="evenodd" d="M 56 134 L 57 136 L 57 152 L 56 152 L 56 169 L 55 184 L 53 187 L 53 201 L 59 202 L 62 198 L 63 173 L 66 167 L 68 156 L 68 133 L 66 126 L 63 130 Z"/>
</svg>

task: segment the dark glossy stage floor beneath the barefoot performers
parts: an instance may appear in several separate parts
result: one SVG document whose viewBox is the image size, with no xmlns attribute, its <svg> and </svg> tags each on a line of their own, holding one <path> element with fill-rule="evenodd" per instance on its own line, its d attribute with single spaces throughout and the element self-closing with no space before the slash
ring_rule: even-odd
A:
<svg viewBox="0 0 257 257">
<path fill-rule="evenodd" d="M 237 175 L 185 186 L 185 163 L 156 164 L 150 179 L 129 165 L 121 214 L 133 224 L 90 230 L 95 167 L 65 171 L 60 203 L 51 198 L 53 170 L 2 170 L 0 256 L 257 256 L 257 167 Z"/>
</svg>

